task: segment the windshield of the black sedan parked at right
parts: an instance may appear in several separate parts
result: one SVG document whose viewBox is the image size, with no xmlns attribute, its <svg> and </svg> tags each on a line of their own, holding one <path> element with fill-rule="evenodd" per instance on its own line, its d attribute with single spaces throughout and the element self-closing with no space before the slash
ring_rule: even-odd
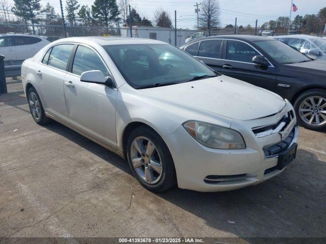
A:
<svg viewBox="0 0 326 244">
<path fill-rule="evenodd" d="M 308 62 L 312 59 L 277 40 L 255 41 L 264 52 L 281 64 Z"/>
</svg>

